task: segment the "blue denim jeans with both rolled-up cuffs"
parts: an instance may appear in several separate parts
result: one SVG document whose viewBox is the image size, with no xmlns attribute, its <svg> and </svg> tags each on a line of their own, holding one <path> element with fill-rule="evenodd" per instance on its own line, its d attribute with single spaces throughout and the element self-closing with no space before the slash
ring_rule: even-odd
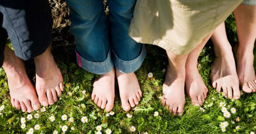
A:
<svg viewBox="0 0 256 134">
<path fill-rule="evenodd" d="M 114 66 L 122 73 L 134 72 L 141 66 L 145 46 L 128 35 L 136 0 L 108 0 L 109 17 L 103 0 L 66 1 L 80 67 L 101 75 Z"/>
</svg>

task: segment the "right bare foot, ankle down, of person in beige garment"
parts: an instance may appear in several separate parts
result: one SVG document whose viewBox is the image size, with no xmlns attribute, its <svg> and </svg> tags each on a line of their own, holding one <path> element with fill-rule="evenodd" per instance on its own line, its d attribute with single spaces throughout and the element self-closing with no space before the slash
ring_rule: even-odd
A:
<svg viewBox="0 0 256 134">
<path fill-rule="evenodd" d="M 186 93 L 194 106 L 202 106 L 208 92 L 205 83 L 198 72 L 198 68 L 186 68 Z"/>
</svg>

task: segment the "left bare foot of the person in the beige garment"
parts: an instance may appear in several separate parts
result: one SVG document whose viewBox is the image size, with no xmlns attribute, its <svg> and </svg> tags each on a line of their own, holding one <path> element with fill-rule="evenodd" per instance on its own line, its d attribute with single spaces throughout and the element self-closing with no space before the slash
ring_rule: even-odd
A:
<svg viewBox="0 0 256 134">
<path fill-rule="evenodd" d="M 172 115 L 182 116 L 185 105 L 185 69 L 184 72 L 175 74 L 169 68 L 163 84 L 162 106 L 172 113 Z"/>
</svg>

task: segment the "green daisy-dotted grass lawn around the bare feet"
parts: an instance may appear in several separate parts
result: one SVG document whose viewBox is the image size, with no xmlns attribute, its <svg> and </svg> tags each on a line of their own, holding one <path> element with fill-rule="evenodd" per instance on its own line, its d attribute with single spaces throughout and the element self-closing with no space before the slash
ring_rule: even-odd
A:
<svg viewBox="0 0 256 134">
<path fill-rule="evenodd" d="M 234 25 L 234 17 L 231 15 L 227 19 L 227 34 L 231 45 L 234 45 L 237 40 L 236 29 Z M 73 51 L 73 48 L 70 48 Z M 29 128 L 34 128 L 36 124 L 40 125 L 39 130 L 34 130 L 34 133 L 51 134 L 57 130 L 60 134 L 62 132 L 60 126 L 67 125 L 66 133 L 74 134 L 95 134 L 96 126 L 102 126 L 102 133 L 105 133 L 107 128 L 112 130 L 114 134 L 129 134 L 129 127 L 134 126 L 136 134 L 218 134 L 222 133 L 220 123 L 224 120 L 229 123 L 225 133 L 241 133 L 249 134 L 251 131 L 256 131 L 256 94 L 244 93 L 237 101 L 231 101 L 218 94 L 211 86 L 210 69 L 213 62 L 213 47 L 209 41 L 203 49 L 198 59 L 199 72 L 202 76 L 209 93 L 202 106 L 205 112 L 199 109 L 198 106 L 193 106 L 190 99 L 186 97 L 185 111 L 182 117 L 171 116 L 168 111 L 161 106 L 160 96 L 162 84 L 164 82 L 165 73 L 162 71 L 167 66 L 167 56 L 163 49 L 147 45 L 147 57 L 143 65 L 137 70 L 141 89 L 143 91 L 142 100 L 136 109 L 129 112 L 122 111 L 121 101 L 118 94 L 118 86 L 115 84 L 115 103 L 114 115 L 106 117 L 107 112 L 103 111 L 93 103 L 90 99 L 92 93 L 92 83 L 95 75 L 79 68 L 75 64 L 75 55 L 67 57 L 66 53 L 57 53 L 53 50 L 58 66 L 61 69 L 64 78 L 65 90 L 61 99 L 52 106 L 46 107 L 46 112 L 34 111 L 39 113 L 39 119 L 33 117 L 32 120 L 26 119 L 25 129 L 21 129 L 20 119 L 27 117 L 28 113 L 22 113 L 11 106 L 7 78 L 3 68 L 0 68 L 0 106 L 5 108 L 0 115 L 0 133 L 26 133 Z M 27 73 L 31 78 L 35 76 L 33 62 L 26 62 Z M 152 72 L 153 79 L 147 77 L 147 73 Z M 221 112 L 221 107 L 218 106 L 220 102 L 225 102 L 230 105 L 230 108 L 236 108 L 235 114 L 231 113 L 230 118 L 224 118 Z M 159 116 L 153 116 L 154 112 L 159 112 Z M 132 118 L 126 116 L 130 113 Z M 68 120 L 61 120 L 62 115 L 74 117 L 74 122 L 69 123 Z M 50 122 L 49 117 L 54 116 L 55 121 Z M 81 117 L 88 117 L 88 123 L 82 123 Z M 235 119 L 239 117 L 241 120 L 236 122 Z M 231 121 L 235 121 L 232 124 Z M 70 128 L 74 126 L 75 130 Z M 235 127 L 240 126 L 240 131 L 235 131 Z"/>
</svg>

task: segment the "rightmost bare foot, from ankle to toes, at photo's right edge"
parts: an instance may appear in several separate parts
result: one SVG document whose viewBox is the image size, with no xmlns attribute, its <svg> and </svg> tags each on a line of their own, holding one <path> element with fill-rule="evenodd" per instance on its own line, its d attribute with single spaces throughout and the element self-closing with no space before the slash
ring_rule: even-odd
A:
<svg viewBox="0 0 256 134">
<path fill-rule="evenodd" d="M 255 92 L 256 77 L 253 68 L 253 51 L 243 52 L 238 48 L 235 49 L 235 57 L 237 59 L 237 75 L 242 90 L 246 93 Z"/>
</svg>

